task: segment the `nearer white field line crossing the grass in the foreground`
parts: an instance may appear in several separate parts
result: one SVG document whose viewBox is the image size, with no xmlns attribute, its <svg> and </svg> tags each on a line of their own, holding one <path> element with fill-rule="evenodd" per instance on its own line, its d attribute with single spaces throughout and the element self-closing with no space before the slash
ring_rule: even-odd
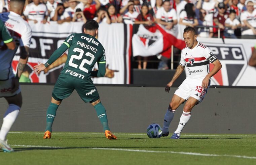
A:
<svg viewBox="0 0 256 165">
<path fill-rule="evenodd" d="M 16 147 L 35 147 L 35 148 L 62 148 L 58 146 L 32 146 L 32 145 L 10 145 Z M 65 148 L 65 147 L 63 147 Z M 112 151 L 129 151 L 129 152 L 146 152 L 146 153 L 171 153 L 171 154 L 183 154 L 183 155 L 195 155 L 195 156 L 209 156 L 209 157 L 234 157 L 245 159 L 256 159 L 256 157 L 241 156 L 241 155 L 216 155 L 216 154 L 201 154 L 193 152 L 175 152 L 175 151 L 152 151 L 152 150 L 133 150 L 133 149 L 121 149 L 121 148 L 88 148 L 94 150 L 112 150 Z"/>
</svg>

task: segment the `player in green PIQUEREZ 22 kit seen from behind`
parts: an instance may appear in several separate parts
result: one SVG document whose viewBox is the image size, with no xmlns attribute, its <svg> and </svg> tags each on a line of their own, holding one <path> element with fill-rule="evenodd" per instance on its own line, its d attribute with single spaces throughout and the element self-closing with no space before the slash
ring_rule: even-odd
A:
<svg viewBox="0 0 256 165">
<path fill-rule="evenodd" d="M 106 72 L 105 50 L 95 38 L 98 28 L 98 22 L 88 20 L 85 23 L 84 34 L 71 34 L 45 64 L 39 63 L 34 67 L 35 73 L 39 74 L 69 49 L 67 61 L 53 88 L 51 103 L 47 109 L 44 139 L 51 138 L 51 126 L 56 111 L 62 100 L 67 98 L 74 89 L 85 103 L 90 102 L 94 106 L 106 137 L 110 140 L 117 139 L 109 129 L 106 110 L 91 79 L 91 76 L 103 77 Z M 99 70 L 92 71 L 96 62 Z"/>
</svg>

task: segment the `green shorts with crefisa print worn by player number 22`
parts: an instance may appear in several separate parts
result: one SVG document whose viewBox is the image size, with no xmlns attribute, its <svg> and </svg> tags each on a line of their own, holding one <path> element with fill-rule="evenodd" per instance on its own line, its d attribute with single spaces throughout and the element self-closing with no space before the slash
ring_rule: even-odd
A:
<svg viewBox="0 0 256 165">
<path fill-rule="evenodd" d="M 85 102 L 95 102 L 100 99 L 99 93 L 92 80 L 79 80 L 66 75 L 60 75 L 52 91 L 55 100 L 62 101 L 76 90 L 80 98 Z"/>
</svg>

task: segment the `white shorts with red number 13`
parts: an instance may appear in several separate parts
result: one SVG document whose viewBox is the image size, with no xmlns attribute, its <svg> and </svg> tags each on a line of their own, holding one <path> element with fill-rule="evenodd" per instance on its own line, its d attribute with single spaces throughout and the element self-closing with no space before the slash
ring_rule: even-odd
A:
<svg viewBox="0 0 256 165">
<path fill-rule="evenodd" d="M 193 80 L 193 79 L 185 79 L 183 83 L 179 86 L 179 88 L 175 91 L 175 95 L 181 97 L 184 100 L 187 100 L 189 97 L 193 97 L 198 100 L 199 104 L 204 100 L 206 93 L 210 87 L 210 82 L 208 88 L 205 90 L 202 86 L 203 79 L 200 80 Z"/>
</svg>

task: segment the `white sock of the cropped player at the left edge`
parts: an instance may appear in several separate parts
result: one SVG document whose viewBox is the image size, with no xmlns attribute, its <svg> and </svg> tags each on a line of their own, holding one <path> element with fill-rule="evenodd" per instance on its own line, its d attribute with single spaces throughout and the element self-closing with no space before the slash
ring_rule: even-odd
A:
<svg viewBox="0 0 256 165">
<path fill-rule="evenodd" d="M 11 129 L 12 124 L 16 120 L 20 110 L 14 110 L 11 113 L 7 114 L 3 119 L 3 124 L 0 130 L 0 140 L 5 141 L 6 135 Z"/>
</svg>

